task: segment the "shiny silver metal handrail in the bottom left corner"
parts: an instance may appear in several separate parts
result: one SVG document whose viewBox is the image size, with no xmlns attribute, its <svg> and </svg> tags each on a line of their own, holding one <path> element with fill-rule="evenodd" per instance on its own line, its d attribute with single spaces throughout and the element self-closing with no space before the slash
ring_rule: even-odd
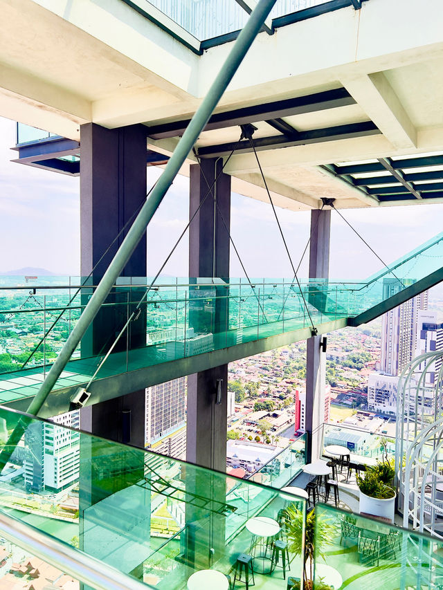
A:
<svg viewBox="0 0 443 590">
<path fill-rule="evenodd" d="M 51 535 L 23 524 L 19 520 L 0 513 L 0 533 L 8 541 L 29 551 L 75 580 L 96 590 L 146 590 L 152 588 L 113 566 L 82 553 L 70 545 L 57 541 Z"/>
</svg>

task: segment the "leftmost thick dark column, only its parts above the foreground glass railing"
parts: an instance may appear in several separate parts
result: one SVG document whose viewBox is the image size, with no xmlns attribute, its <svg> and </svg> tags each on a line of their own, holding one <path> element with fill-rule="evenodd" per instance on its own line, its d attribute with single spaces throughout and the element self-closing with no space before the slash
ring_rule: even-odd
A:
<svg viewBox="0 0 443 590">
<path fill-rule="evenodd" d="M 146 133 L 139 125 L 105 129 L 88 123 L 80 128 L 80 145 L 81 273 L 89 275 L 97 264 L 92 277 L 97 284 L 125 239 L 131 225 L 128 221 L 146 199 Z M 138 243 L 122 275 L 146 276 L 146 237 Z M 132 302 L 143 291 L 119 288 L 109 295 L 107 303 L 114 305 L 98 313 L 82 340 L 82 356 L 100 355 L 109 349 L 134 308 Z M 146 317 L 141 313 L 114 350 L 124 351 L 127 344 L 129 349 L 136 348 L 145 342 Z M 141 390 L 82 409 L 82 427 L 98 436 L 144 447 L 144 416 L 145 391 Z"/>
</svg>

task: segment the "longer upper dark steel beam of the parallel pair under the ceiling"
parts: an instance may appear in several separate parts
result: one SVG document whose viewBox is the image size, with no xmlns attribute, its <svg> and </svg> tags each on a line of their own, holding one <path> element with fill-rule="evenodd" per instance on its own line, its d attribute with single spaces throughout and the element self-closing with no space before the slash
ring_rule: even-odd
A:
<svg viewBox="0 0 443 590">
<path fill-rule="evenodd" d="M 204 131 L 235 127 L 257 121 L 266 120 L 268 122 L 270 119 L 291 117 L 303 113 L 314 113 L 316 111 L 325 111 L 326 109 L 336 109 L 337 107 L 345 107 L 349 104 L 355 104 L 354 98 L 352 98 L 346 89 L 338 88 L 316 94 L 298 96 L 296 98 L 256 104 L 253 107 L 242 107 L 241 109 L 234 109 L 233 111 L 226 111 L 224 113 L 215 113 L 208 120 Z M 184 119 L 172 123 L 163 123 L 162 125 L 152 125 L 152 127 L 147 128 L 147 135 L 152 139 L 181 136 L 188 127 L 189 122 L 189 119 Z"/>
</svg>

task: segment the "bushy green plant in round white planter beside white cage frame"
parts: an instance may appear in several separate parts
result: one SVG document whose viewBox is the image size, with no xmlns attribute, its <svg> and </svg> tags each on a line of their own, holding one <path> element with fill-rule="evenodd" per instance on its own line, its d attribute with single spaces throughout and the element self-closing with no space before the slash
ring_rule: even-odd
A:
<svg viewBox="0 0 443 590">
<path fill-rule="evenodd" d="M 388 518 L 394 522 L 396 497 L 395 490 L 392 488 L 394 473 L 392 461 L 383 459 L 374 467 L 368 467 L 364 477 L 356 476 L 360 490 L 360 513 Z"/>
</svg>

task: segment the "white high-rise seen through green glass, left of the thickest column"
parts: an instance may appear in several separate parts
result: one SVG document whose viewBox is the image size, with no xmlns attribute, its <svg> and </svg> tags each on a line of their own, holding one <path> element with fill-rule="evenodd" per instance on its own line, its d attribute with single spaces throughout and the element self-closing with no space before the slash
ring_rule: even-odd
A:
<svg viewBox="0 0 443 590">
<path fill-rule="evenodd" d="M 26 429 L 24 479 L 32 492 L 58 492 L 78 479 L 80 468 L 80 410 L 52 419 L 54 424 L 33 423 Z M 59 424 L 60 426 L 57 426 Z"/>
</svg>

